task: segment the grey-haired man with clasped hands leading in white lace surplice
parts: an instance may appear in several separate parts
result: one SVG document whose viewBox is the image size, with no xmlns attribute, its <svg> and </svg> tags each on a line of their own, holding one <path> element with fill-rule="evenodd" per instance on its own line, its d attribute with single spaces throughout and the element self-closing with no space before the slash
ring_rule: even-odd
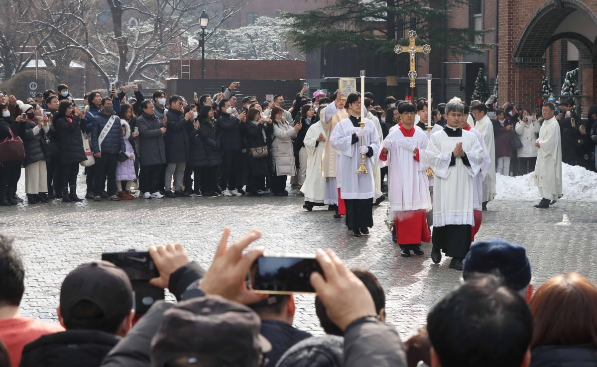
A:
<svg viewBox="0 0 597 367">
<path fill-rule="evenodd" d="M 442 131 L 431 135 L 426 154 L 435 174 L 433 183 L 433 246 L 438 264 L 441 251 L 452 258 L 450 267 L 462 270 L 470 248 L 475 190 L 473 177 L 482 168 L 484 153 L 474 134 L 460 128 L 464 106 L 448 102 Z"/>
</svg>

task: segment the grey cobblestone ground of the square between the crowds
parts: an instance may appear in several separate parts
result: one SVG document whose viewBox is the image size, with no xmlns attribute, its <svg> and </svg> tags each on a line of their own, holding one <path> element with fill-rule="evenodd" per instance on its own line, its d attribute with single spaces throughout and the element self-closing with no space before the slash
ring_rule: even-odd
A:
<svg viewBox="0 0 597 367">
<path fill-rule="evenodd" d="M 79 194 L 84 176 L 79 175 Z M 374 207 L 370 236 L 353 238 L 332 212 L 301 208 L 298 189 L 290 196 L 135 199 L 0 207 L 0 231 L 14 236 L 26 264 L 23 314 L 56 320 L 60 283 L 78 264 L 97 260 L 103 251 L 139 250 L 149 245 L 183 243 L 189 255 L 207 267 L 224 226 L 232 238 L 250 229 L 263 231 L 257 245 L 278 252 L 312 253 L 334 249 L 349 266 L 372 270 L 386 291 L 387 321 L 403 340 L 425 323 L 435 300 L 458 283 L 449 259 L 435 265 L 424 244 L 424 257 L 400 257 L 383 219 L 387 201 Z M 24 174 L 19 194 L 24 196 Z M 477 239 L 505 238 L 527 248 L 536 286 L 563 272 L 579 272 L 597 282 L 595 203 L 562 198 L 550 209 L 534 202 L 494 201 L 484 212 Z M 169 298 L 170 300 L 173 297 Z M 295 325 L 321 333 L 312 295 L 298 295 Z"/>
</svg>

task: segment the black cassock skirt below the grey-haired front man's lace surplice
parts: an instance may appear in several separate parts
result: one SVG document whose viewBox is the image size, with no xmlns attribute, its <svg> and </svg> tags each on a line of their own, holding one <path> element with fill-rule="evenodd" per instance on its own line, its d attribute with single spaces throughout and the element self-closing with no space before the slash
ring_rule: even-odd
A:
<svg viewBox="0 0 597 367">
<path fill-rule="evenodd" d="M 446 256 L 464 258 L 470 248 L 469 224 L 448 224 L 443 227 L 433 227 L 433 250 L 444 251 Z"/>
</svg>

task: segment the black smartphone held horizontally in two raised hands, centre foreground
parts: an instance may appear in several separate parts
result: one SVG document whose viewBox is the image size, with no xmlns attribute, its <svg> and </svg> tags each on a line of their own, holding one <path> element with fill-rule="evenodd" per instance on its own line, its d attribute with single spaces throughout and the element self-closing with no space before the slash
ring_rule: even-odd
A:
<svg viewBox="0 0 597 367">
<path fill-rule="evenodd" d="M 256 293 L 315 293 L 313 272 L 323 274 L 315 255 L 266 254 L 251 265 L 249 285 Z"/>
</svg>

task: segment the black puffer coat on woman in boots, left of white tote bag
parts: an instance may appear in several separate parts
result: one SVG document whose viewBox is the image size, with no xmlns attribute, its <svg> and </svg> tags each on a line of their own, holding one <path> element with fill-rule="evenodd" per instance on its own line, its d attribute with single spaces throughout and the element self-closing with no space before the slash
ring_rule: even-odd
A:
<svg viewBox="0 0 597 367">
<path fill-rule="evenodd" d="M 81 137 L 81 131 L 85 132 L 85 120 L 81 122 L 79 116 L 73 116 L 72 122 L 69 124 L 69 119 L 59 115 L 54 118 L 61 165 L 80 163 L 87 159 Z"/>
</svg>

